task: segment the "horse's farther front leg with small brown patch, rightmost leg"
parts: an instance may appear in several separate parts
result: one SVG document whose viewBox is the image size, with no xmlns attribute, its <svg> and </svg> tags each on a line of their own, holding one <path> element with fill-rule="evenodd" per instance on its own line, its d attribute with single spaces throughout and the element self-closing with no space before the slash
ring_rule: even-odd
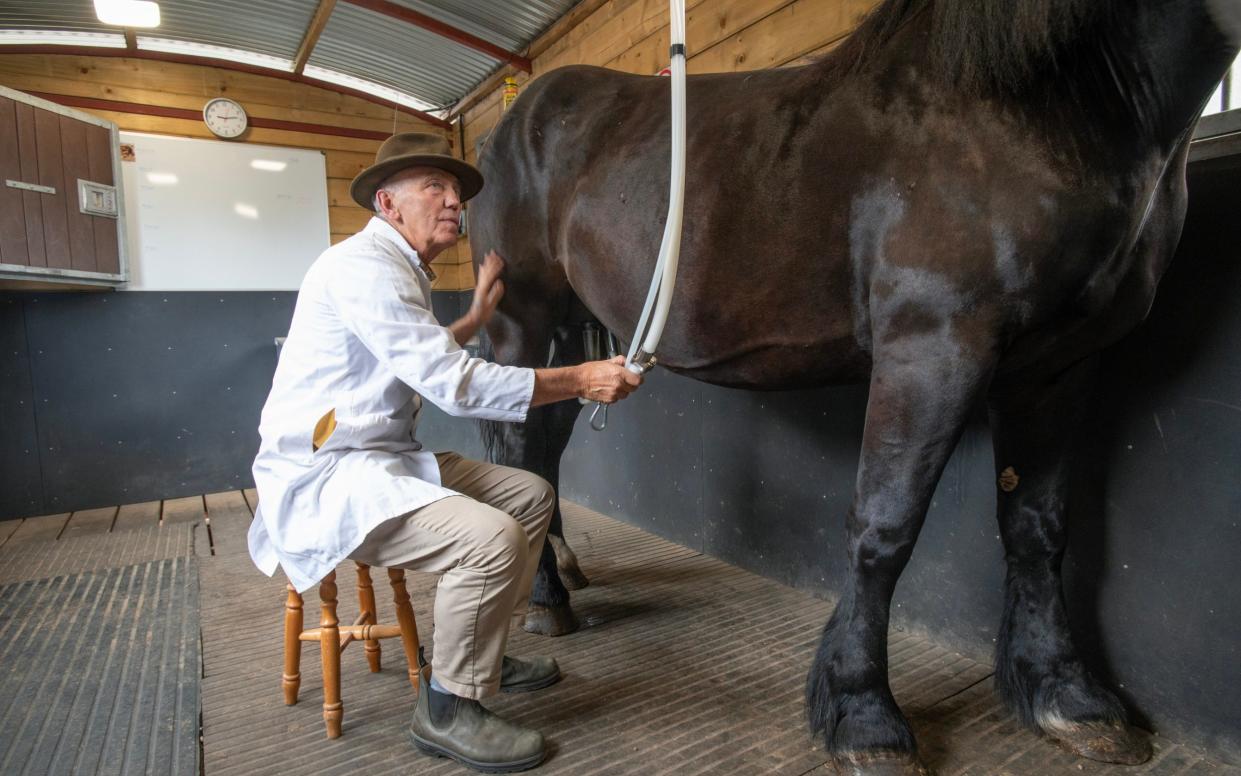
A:
<svg viewBox="0 0 1241 776">
<path fill-rule="evenodd" d="M 1082 665 L 1061 592 L 1073 430 L 1093 364 L 1019 395 L 992 399 L 999 523 L 1008 561 L 995 684 L 1021 720 L 1065 749 L 1104 762 L 1150 757 L 1124 706 Z"/>
</svg>

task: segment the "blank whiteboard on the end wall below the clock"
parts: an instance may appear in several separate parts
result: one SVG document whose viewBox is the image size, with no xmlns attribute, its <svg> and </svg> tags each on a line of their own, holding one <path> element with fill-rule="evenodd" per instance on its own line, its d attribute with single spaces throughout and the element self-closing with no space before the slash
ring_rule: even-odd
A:
<svg viewBox="0 0 1241 776">
<path fill-rule="evenodd" d="M 323 151 L 122 132 L 128 291 L 295 291 L 331 242 Z"/>
</svg>

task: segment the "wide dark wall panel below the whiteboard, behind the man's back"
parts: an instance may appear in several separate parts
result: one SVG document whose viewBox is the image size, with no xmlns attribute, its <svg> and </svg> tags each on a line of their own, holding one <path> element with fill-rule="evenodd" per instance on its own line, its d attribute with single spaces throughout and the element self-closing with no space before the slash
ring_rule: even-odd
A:
<svg viewBox="0 0 1241 776">
<path fill-rule="evenodd" d="M 249 487 L 293 293 L 9 299 L 26 309 L 47 512 Z"/>
</svg>

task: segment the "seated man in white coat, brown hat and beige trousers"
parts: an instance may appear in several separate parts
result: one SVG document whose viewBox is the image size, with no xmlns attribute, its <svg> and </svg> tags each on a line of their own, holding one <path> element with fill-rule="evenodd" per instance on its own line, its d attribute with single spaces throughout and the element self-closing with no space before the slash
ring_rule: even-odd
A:
<svg viewBox="0 0 1241 776">
<path fill-rule="evenodd" d="M 520 469 L 424 451 L 414 436 L 422 399 L 455 416 L 521 422 L 555 401 L 618 401 L 642 379 L 623 358 L 560 369 L 470 358 L 462 345 L 504 296 L 494 252 L 469 313 L 448 327 L 436 320 L 428 264 L 457 241 L 460 205 L 482 187 L 447 140 L 423 133 L 388 138 L 354 179 L 350 194 L 375 217 L 326 250 L 302 283 L 259 423 L 249 551 L 268 575 L 283 567 L 299 592 L 349 557 L 441 574 L 414 744 L 478 770 L 514 771 L 542 761 L 542 735 L 479 699 L 560 678 L 551 658 L 504 654 L 555 493 Z"/>
</svg>

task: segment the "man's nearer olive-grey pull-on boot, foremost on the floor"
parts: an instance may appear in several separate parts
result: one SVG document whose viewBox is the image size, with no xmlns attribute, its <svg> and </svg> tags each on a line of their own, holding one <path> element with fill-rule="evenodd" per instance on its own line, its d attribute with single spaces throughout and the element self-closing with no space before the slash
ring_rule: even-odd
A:
<svg viewBox="0 0 1241 776">
<path fill-rule="evenodd" d="M 418 703 L 410 725 L 418 750 L 484 774 L 525 771 L 542 762 L 541 733 L 506 723 L 477 700 L 432 690 L 429 677 L 428 665 L 418 677 Z"/>
</svg>

